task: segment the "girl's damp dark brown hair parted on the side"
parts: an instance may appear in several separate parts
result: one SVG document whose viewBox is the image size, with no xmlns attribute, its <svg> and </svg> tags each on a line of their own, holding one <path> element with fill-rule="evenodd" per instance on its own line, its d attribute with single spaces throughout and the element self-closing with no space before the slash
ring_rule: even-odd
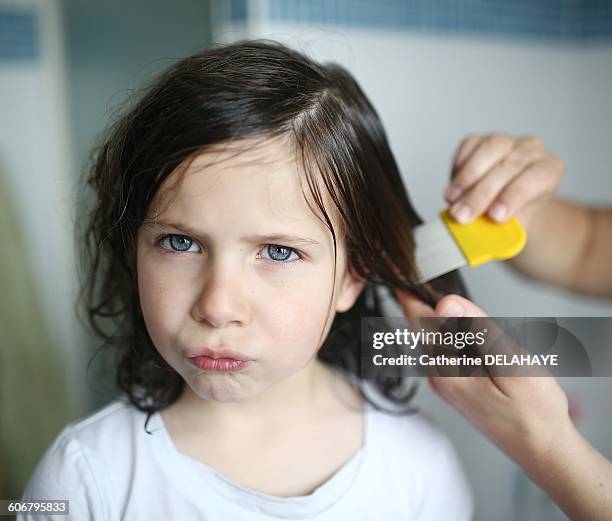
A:
<svg viewBox="0 0 612 521">
<path fill-rule="evenodd" d="M 92 156 L 87 180 L 95 204 L 76 227 L 77 244 L 84 245 L 77 305 L 84 304 L 100 347 L 114 353 L 118 387 L 149 415 L 177 400 L 184 381 L 145 327 L 137 233 L 164 180 L 206 147 L 288 136 L 336 251 L 322 181 L 341 217 L 350 268 L 368 281 L 355 305 L 334 319 L 318 354 L 328 364 L 359 377 L 361 318 L 383 315 L 375 286 L 410 290 L 431 305 L 447 293 L 466 294 L 455 272 L 415 283 L 412 231 L 422 221 L 380 118 L 341 66 L 279 43 L 243 41 L 178 61 L 131 103 Z M 398 392 L 405 390 L 401 378 L 374 383 L 395 403 L 408 403 L 414 391 Z"/>
</svg>

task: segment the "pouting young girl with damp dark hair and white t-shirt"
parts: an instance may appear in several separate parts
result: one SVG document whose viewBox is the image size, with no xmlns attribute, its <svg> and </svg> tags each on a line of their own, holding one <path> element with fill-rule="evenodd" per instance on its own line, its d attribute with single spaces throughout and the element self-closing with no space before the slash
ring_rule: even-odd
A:
<svg viewBox="0 0 612 521">
<path fill-rule="evenodd" d="M 346 70 L 268 42 L 190 56 L 89 182 L 82 296 L 123 394 L 61 432 L 24 499 L 78 520 L 471 518 L 450 443 L 397 414 L 414 389 L 360 379 L 377 285 L 465 290 L 414 284 L 421 221 Z"/>
</svg>

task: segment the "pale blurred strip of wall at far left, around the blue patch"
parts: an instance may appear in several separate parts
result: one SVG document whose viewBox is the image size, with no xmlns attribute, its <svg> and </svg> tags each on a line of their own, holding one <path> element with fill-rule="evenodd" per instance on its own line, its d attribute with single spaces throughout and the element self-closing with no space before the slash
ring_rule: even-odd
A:
<svg viewBox="0 0 612 521">
<path fill-rule="evenodd" d="M 60 11 L 57 0 L 0 0 L 0 7 L 11 6 L 35 14 L 40 54 L 32 61 L 0 62 L 0 161 L 20 211 L 50 334 L 70 374 L 81 361 L 82 336 L 73 306 L 73 178 Z M 76 383 L 72 392 L 78 393 Z"/>
</svg>

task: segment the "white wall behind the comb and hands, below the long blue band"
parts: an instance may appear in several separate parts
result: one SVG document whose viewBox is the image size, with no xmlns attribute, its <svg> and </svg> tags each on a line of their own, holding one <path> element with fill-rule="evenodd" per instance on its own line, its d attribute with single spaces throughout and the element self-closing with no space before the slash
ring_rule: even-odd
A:
<svg viewBox="0 0 612 521">
<path fill-rule="evenodd" d="M 344 64 L 378 109 L 419 213 L 434 218 L 461 138 L 505 131 L 542 138 L 567 165 L 561 193 L 612 203 L 612 45 L 527 44 L 270 23 L 257 2 L 247 23 L 221 25 L 218 42 L 272 38 Z M 568 237 L 571 240 L 571 237 Z M 612 303 L 528 282 L 499 263 L 462 270 L 473 299 L 492 316 L 611 316 Z M 612 457 L 603 396 L 610 379 L 565 379 L 579 426 Z M 564 519 L 517 467 L 423 383 L 417 402 L 449 432 L 476 493 L 476 519 Z"/>
</svg>

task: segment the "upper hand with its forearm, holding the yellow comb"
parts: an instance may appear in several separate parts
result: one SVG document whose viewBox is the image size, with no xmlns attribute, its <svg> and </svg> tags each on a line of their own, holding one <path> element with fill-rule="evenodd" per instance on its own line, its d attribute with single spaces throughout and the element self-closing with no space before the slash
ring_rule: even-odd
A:
<svg viewBox="0 0 612 521">
<path fill-rule="evenodd" d="M 450 214 L 462 223 L 483 214 L 498 222 L 517 217 L 528 239 L 509 266 L 572 291 L 612 297 L 612 208 L 549 197 L 564 171 L 537 138 L 468 136 L 453 159 L 445 194 Z"/>
</svg>

